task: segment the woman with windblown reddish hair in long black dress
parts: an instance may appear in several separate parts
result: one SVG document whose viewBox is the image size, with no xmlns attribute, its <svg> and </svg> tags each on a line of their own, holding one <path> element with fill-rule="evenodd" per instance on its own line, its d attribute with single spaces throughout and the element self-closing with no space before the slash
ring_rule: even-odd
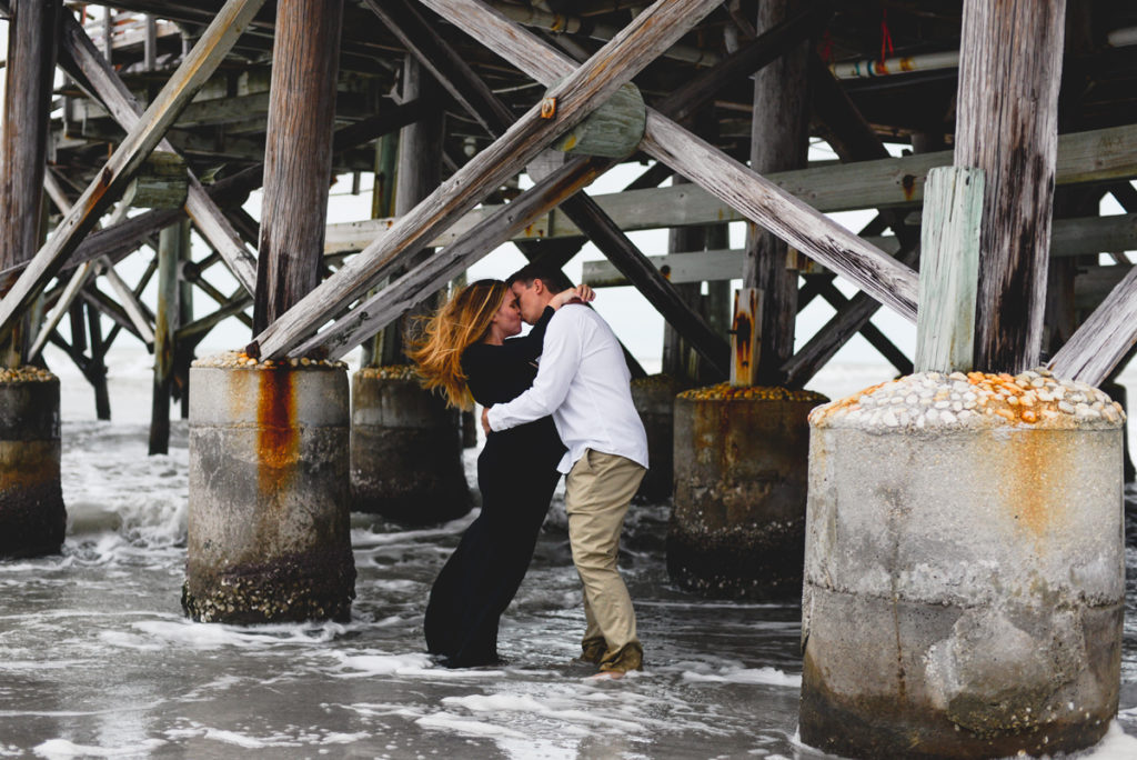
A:
<svg viewBox="0 0 1137 760">
<path fill-rule="evenodd" d="M 453 406 L 504 404 L 537 377 L 545 327 L 573 298 L 591 299 L 587 286 L 559 294 L 523 338 L 517 300 L 499 280 L 479 280 L 454 296 L 426 324 L 412 352 L 423 385 L 441 388 Z M 564 446 L 551 418 L 491 432 L 478 457 L 481 514 L 431 588 L 426 647 L 447 667 L 499 662 L 498 620 L 513 601 L 533 556 Z"/>
</svg>

